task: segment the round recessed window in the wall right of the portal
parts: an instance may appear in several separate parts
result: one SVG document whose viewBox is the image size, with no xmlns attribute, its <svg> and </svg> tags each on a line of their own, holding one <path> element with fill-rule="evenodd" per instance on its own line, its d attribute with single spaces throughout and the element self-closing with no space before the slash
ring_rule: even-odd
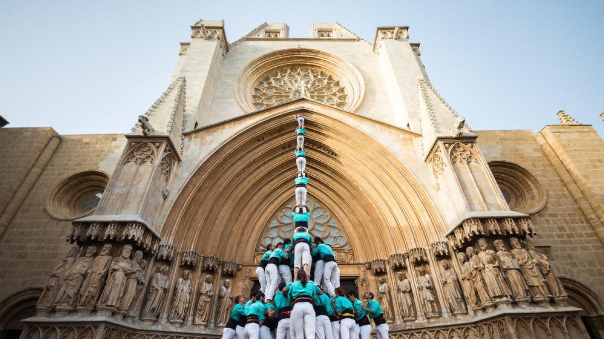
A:
<svg viewBox="0 0 604 339">
<path fill-rule="evenodd" d="M 534 214 L 544 208 L 545 190 L 529 171 L 507 161 L 489 162 L 489 167 L 512 211 Z"/>
</svg>

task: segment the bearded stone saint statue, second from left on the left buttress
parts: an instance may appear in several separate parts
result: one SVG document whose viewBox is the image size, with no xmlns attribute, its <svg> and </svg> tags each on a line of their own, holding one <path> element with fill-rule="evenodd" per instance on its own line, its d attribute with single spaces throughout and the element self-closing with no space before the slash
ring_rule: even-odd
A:
<svg viewBox="0 0 604 339">
<path fill-rule="evenodd" d="M 86 247 L 84 256 L 77 259 L 67 273 L 65 273 L 65 282 L 63 282 L 59 293 L 57 293 L 55 302 L 57 306 L 70 309 L 76 306 L 77 294 L 80 291 L 84 277 L 88 274 L 88 268 L 92 266 L 96 253 L 96 246 Z"/>
</svg>

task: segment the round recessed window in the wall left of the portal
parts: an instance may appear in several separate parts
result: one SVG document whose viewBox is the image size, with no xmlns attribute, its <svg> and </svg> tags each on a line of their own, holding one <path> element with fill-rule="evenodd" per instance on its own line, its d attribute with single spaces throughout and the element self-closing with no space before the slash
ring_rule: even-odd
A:
<svg viewBox="0 0 604 339">
<path fill-rule="evenodd" d="M 82 171 L 61 180 L 46 199 L 46 211 L 59 220 L 72 220 L 97 208 L 109 176 L 103 171 Z"/>
</svg>

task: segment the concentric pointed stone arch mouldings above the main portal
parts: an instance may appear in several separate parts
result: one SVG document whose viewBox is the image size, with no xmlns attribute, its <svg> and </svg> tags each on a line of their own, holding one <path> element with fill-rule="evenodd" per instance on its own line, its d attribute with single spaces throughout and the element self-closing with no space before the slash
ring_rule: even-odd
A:
<svg viewBox="0 0 604 339">
<path fill-rule="evenodd" d="M 252 262 L 267 221 L 294 194 L 292 116 L 298 110 L 308 118 L 307 143 L 319 145 L 307 148 L 309 192 L 338 215 L 356 260 L 426 247 L 442 236 L 442 218 L 425 189 L 379 142 L 324 113 L 275 110 L 202 160 L 162 238 L 223 260 Z"/>
</svg>

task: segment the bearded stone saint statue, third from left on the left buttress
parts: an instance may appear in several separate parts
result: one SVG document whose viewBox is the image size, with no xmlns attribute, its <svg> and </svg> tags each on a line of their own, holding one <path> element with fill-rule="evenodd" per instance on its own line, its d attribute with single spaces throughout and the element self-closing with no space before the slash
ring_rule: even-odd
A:
<svg viewBox="0 0 604 339">
<path fill-rule="evenodd" d="M 98 296 L 103 290 L 109 264 L 111 264 L 111 244 L 104 244 L 100 255 L 94 258 L 92 266 L 88 270 L 88 276 L 80 288 L 80 298 L 77 306 L 83 308 L 93 308 L 97 303 Z"/>
</svg>

